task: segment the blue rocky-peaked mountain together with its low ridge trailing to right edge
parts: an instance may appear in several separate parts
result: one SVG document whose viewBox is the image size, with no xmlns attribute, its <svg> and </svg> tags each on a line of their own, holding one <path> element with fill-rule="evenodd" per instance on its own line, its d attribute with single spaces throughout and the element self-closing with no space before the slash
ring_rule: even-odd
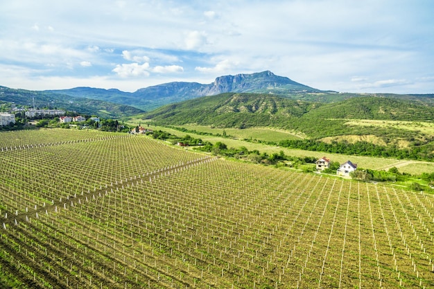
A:
<svg viewBox="0 0 434 289">
<path fill-rule="evenodd" d="M 46 92 L 130 105 L 147 112 L 170 103 L 179 103 L 184 100 L 202 96 L 214 96 L 227 92 L 279 95 L 295 100 L 320 103 L 333 103 L 354 97 L 384 96 L 434 104 L 433 94 L 354 94 L 322 91 L 307 85 L 302 85 L 284 76 L 276 76 L 271 71 L 237 74 L 235 76 L 220 76 L 209 84 L 200 84 L 198 82 L 168 82 L 161 85 L 137 89 L 137 91 L 134 92 L 92 87 L 76 87 L 73 89 L 49 90 Z"/>
</svg>

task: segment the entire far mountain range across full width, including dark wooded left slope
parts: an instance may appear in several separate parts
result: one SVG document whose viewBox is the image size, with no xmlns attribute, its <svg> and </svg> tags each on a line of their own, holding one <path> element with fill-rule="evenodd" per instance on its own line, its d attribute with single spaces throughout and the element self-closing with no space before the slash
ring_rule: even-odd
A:
<svg viewBox="0 0 434 289">
<path fill-rule="evenodd" d="M 97 114 L 103 117 L 119 118 L 121 116 L 140 114 L 141 112 L 150 112 L 167 104 L 229 92 L 282 96 L 288 99 L 306 100 L 315 103 L 336 103 L 361 96 L 400 98 L 430 105 L 434 103 L 433 94 L 354 94 L 322 91 L 302 85 L 284 76 L 276 76 L 271 71 L 220 76 L 209 84 L 168 82 L 141 88 L 134 92 L 92 87 L 46 91 L 0 87 L 0 103 L 1 101 L 15 102 L 32 106 L 34 99 L 35 105 L 38 107 L 59 107 L 65 110 L 76 110 L 82 114 Z"/>
</svg>

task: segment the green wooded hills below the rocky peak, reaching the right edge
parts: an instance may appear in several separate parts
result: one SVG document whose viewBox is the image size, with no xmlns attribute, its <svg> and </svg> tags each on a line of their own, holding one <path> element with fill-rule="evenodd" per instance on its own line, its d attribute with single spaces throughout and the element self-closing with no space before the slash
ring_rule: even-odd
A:
<svg viewBox="0 0 434 289">
<path fill-rule="evenodd" d="M 434 107 L 427 103 L 378 96 L 349 98 L 336 103 L 313 103 L 270 94 L 227 93 L 165 105 L 144 117 L 164 125 L 196 123 L 221 128 L 272 126 L 322 138 L 370 131 L 370 128 L 363 128 L 363 132 L 349 129 L 344 125 L 349 119 L 431 121 L 434 119 Z M 383 134 L 378 128 L 369 133 Z"/>
</svg>

